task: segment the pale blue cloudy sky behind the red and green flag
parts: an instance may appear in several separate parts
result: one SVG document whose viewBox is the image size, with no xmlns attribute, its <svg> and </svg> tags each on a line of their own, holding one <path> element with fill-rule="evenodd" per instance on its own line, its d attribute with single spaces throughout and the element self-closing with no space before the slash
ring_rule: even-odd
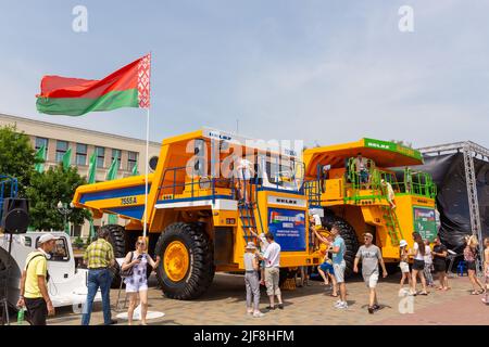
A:
<svg viewBox="0 0 489 347">
<path fill-rule="evenodd" d="M 72 9 L 88 9 L 88 33 Z M 414 9 L 414 33 L 398 9 Z M 489 146 L 488 1 L 0 0 L 0 113 L 136 138 L 141 110 L 40 115 L 46 74 L 102 78 L 153 54 L 151 140 L 202 126 L 333 144 Z"/>
</svg>

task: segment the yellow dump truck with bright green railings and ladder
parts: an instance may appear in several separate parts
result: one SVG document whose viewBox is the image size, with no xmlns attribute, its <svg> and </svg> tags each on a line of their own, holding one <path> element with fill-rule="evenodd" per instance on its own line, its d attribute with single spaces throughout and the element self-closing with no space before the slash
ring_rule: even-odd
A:
<svg viewBox="0 0 489 347">
<path fill-rule="evenodd" d="M 432 240 L 437 233 L 436 185 L 416 150 L 375 139 L 308 149 L 305 194 L 322 214 L 325 232 L 337 223 L 346 241 L 347 274 L 362 234 L 369 232 L 386 262 L 399 260 L 399 242 L 412 233 Z"/>
</svg>

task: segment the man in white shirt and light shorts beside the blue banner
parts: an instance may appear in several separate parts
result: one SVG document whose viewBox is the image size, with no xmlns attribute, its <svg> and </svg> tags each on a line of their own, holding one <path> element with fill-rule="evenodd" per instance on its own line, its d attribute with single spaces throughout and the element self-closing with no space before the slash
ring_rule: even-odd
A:
<svg viewBox="0 0 489 347">
<path fill-rule="evenodd" d="M 278 308 L 284 309 L 284 304 L 281 301 L 280 287 L 278 281 L 280 278 L 280 245 L 274 241 L 274 234 L 268 232 L 265 235 L 268 246 L 265 253 L 261 257 L 265 260 L 265 286 L 266 294 L 269 298 L 269 306 L 267 309 L 275 309 L 275 296 L 278 299 Z"/>
</svg>

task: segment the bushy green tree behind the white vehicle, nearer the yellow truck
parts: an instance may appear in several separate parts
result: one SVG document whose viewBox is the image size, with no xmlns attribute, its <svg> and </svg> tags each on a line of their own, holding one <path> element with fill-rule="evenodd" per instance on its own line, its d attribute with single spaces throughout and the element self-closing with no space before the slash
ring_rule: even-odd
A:
<svg viewBox="0 0 489 347">
<path fill-rule="evenodd" d="M 30 227 L 36 230 L 64 230 L 64 216 L 57 208 L 58 202 L 70 203 L 76 188 L 86 183 L 76 168 L 63 168 L 62 163 L 42 174 L 35 171 L 26 190 L 30 203 Z M 86 209 L 74 208 L 67 218 L 72 223 L 83 224 L 90 214 Z"/>
</svg>

